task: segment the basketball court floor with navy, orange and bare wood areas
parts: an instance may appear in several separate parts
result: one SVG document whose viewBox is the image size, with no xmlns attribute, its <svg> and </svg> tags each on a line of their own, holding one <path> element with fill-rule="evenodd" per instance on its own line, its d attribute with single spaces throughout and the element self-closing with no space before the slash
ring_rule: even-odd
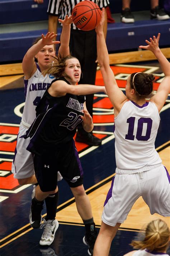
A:
<svg viewBox="0 0 170 256">
<path fill-rule="evenodd" d="M 157 62 L 140 64 L 117 64 L 111 66 L 119 87 L 125 91 L 126 79 L 132 72 L 155 74 L 154 90 L 164 77 Z M 82 243 L 84 226 L 77 214 L 74 198 L 65 181 L 58 183 L 60 197 L 57 219 L 60 223 L 54 242 L 50 247 L 39 246 L 43 230 L 33 230 L 29 225 L 29 208 L 32 185 L 19 186 L 11 174 L 16 137 L 24 106 L 23 71 L 21 64 L 0 66 L 0 237 L 1 256 L 86 256 L 87 248 Z M 103 79 L 97 71 L 96 84 L 102 85 Z M 155 147 L 162 162 L 170 169 L 169 131 L 170 97 L 167 98 L 160 113 L 161 123 Z M 84 187 L 90 198 L 94 220 L 100 227 L 103 204 L 115 172 L 114 152 L 114 110 L 108 97 L 103 93 L 94 97 L 94 133 L 102 139 L 100 147 L 89 147 L 76 143 L 84 169 Z M 46 215 L 46 209 L 43 209 Z M 131 209 L 127 220 L 121 225 L 113 240 L 110 256 L 123 256 L 132 250 L 131 240 L 140 233 L 144 224 L 152 219 L 164 219 L 170 226 L 170 218 L 150 215 L 148 207 L 139 198 Z"/>
</svg>

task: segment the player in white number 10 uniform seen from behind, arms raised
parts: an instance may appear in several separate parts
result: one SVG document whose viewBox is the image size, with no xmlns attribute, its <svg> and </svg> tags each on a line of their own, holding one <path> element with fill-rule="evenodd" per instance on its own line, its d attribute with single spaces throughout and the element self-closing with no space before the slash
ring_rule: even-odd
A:
<svg viewBox="0 0 170 256">
<path fill-rule="evenodd" d="M 109 254 L 110 244 L 134 202 L 142 196 L 151 214 L 170 216 L 169 173 L 155 150 L 159 112 L 170 90 L 170 63 L 159 49 L 160 34 L 146 40 L 165 74 L 157 93 L 147 102 L 153 90 L 154 75 L 137 72 L 127 79 L 126 96 L 119 89 L 109 66 L 109 55 L 103 34 L 104 10 L 97 33 L 100 71 L 115 117 L 116 175 L 104 203 L 101 228 L 94 256 Z"/>
</svg>

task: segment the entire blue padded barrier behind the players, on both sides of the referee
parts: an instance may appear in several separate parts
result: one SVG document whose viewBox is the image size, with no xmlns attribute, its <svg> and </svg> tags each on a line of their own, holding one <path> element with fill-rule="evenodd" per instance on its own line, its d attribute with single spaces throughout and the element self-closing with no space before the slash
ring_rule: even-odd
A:
<svg viewBox="0 0 170 256">
<path fill-rule="evenodd" d="M 21 61 L 36 37 L 47 30 L 0 34 L 0 62 Z M 109 53 L 115 51 L 137 50 L 145 39 L 161 33 L 160 47 L 170 45 L 170 20 L 136 21 L 132 24 L 108 24 L 107 47 Z M 58 29 L 58 38 L 61 28 Z"/>
</svg>

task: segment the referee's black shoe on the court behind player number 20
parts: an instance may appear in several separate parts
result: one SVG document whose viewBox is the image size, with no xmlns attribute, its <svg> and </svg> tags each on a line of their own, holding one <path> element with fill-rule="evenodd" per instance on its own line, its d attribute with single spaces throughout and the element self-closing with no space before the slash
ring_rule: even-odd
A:
<svg viewBox="0 0 170 256">
<path fill-rule="evenodd" d="M 86 134 L 80 134 L 77 132 L 76 141 L 88 144 L 89 146 L 100 146 L 101 140 L 93 135 L 93 133 L 89 132 Z"/>
</svg>

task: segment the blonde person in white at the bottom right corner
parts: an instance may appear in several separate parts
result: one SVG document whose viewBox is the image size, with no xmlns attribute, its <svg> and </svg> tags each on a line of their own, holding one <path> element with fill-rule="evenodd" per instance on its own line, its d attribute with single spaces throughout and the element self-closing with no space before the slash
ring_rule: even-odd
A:
<svg viewBox="0 0 170 256">
<path fill-rule="evenodd" d="M 133 240 L 130 245 L 139 250 L 128 252 L 124 256 L 169 256 L 166 253 L 169 246 L 169 228 L 160 219 L 152 220 L 146 227 L 143 240 Z"/>
</svg>

